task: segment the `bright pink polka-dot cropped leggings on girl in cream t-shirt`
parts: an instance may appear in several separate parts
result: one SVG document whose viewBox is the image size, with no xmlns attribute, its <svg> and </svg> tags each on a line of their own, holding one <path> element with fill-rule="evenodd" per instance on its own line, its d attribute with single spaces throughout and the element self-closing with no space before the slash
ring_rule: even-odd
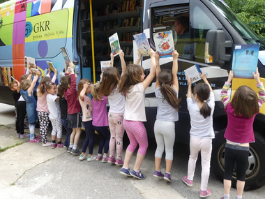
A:
<svg viewBox="0 0 265 199">
<path fill-rule="evenodd" d="M 147 133 L 144 123 L 142 121 L 130 121 L 123 119 L 123 126 L 130 140 L 130 145 L 127 147 L 127 150 L 132 153 L 135 152 L 139 143 L 137 153 L 144 156 L 148 147 Z"/>
</svg>

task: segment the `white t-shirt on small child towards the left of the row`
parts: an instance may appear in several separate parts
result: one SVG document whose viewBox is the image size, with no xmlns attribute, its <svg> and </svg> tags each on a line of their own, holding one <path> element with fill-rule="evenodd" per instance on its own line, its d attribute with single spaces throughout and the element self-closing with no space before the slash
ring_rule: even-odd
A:
<svg viewBox="0 0 265 199">
<path fill-rule="evenodd" d="M 50 111 L 49 118 L 50 119 L 60 119 L 61 112 L 60 112 L 60 105 L 59 101 L 55 101 L 57 98 L 56 95 L 47 94 L 47 107 Z"/>
</svg>

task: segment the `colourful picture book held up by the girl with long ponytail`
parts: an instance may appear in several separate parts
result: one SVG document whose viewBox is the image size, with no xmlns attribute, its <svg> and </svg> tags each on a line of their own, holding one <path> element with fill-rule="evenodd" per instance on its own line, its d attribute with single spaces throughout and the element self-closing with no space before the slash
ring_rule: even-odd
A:
<svg viewBox="0 0 265 199">
<path fill-rule="evenodd" d="M 163 31 L 153 34 L 153 40 L 156 45 L 156 51 L 160 58 L 172 57 L 174 49 L 174 40 L 172 31 Z"/>
</svg>

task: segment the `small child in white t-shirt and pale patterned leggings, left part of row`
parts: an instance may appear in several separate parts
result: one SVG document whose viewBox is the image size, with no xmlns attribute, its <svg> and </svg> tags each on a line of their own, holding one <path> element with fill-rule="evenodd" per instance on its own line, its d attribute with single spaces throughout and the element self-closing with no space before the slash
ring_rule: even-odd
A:
<svg viewBox="0 0 265 199">
<path fill-rule="evenodd" d="M 57 87 L 54 82 L 46 82 L 45 89 L 47 90 L 47 107 L 50 112 L 49 118 L 52 122 L 52 149 L 56 147 L 63 147 L 61 142 L 62 126 L 61 126 L 61 112 L 59 105 L 59 96 L 57 96 Z M 56 144 L 56 135 L 58 145 Z"/>
</svg>

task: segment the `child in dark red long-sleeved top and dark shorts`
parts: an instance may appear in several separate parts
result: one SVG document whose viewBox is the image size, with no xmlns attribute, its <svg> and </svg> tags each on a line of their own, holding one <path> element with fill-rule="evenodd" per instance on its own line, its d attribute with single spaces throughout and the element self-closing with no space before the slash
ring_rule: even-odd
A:
<svg viewBox="0 0 265 199">
<path fill-rule="evenodd" d="M 80 112 L 80 103 L 77 99 L 77 82 L 75 78 L 75 71 L 73 69 L 73 62 L 70 62 L 70 75 L 66 73 L 65 76 L 61 78 L 61 87 L 64 88 L 63 94 L 66 98 L 67 105 L 68 105 L 68 128 L 73 128 L 73 131 L 70 136 L 70 144 L 68 147 L 67 152 L 79 156 L 81 154 L 77 149 L 77 145 L 79 142 L 81 131 L 81 117 L 79 115 Z M 67 71 L 67 66 L 66 66 Z"/>
</svg>

